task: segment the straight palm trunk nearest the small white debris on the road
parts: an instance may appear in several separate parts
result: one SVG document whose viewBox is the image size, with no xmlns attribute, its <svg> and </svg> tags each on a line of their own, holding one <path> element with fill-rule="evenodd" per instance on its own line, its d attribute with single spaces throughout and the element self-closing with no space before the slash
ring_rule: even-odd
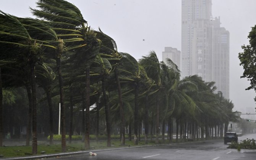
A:
<svg viewBox="0 0 256 160">
<path fill-rule="evenodd" d="M 89 59 L 89 58 L 88 58 Z M 90 67 L 86 68 L 86 82 L 85 82 L 85 149 L 90 149 Z"/>
</svg>

